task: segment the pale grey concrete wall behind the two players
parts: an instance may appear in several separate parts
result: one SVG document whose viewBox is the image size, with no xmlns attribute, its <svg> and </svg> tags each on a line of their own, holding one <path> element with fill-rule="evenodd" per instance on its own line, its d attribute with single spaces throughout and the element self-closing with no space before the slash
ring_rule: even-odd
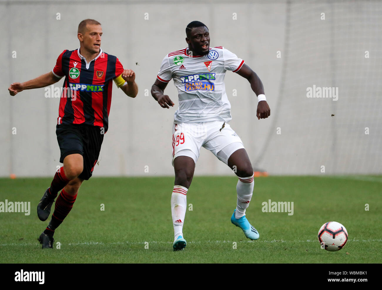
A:
<svg viewBox="0 0 382 290">
<path fill-rule="evenodd" d="M 185 27 L 193 20 L 208 26 L 212 47 L 223 45 L 236 53 L 256 71 L 264 84 L 271 117 L 259 121 L 256 118 L 257 98 L 248 81 L 230 71 L 226 75 L 233 117 L 230 125 L 242 138 L 254 167 L 270 174 L 319 174 L 320 165 L 329 165 L 327 172 L 330 173 L 381 172 L 381 167 L 374 161 L 381 160 L 382 155 L 379 144 L 381 102 L 376 94 L 381 92 L 381 68 L 372 66 L 380 56 L 376 51 L 370 52 L 374 60 L 367 59 L 368 63 L 363 57 L 365 50 L 380 47 L 380 29 L 377 37 L 373 34 L 378 30 L 375 26 L 381 27 L 380 19 L 375 17 L 376 22 L 356 26 L 354 29 L 358 29 L 358 34 L 353 38 L 344 37 L 328 44 L 327 37 L 333 39 L 333 36 L 347 35 L 349 23 L 346 21 L 351 21 L 351 17 L 346 15 L 357 15 L 362 13 L 362 9 L 360 12 L 352 6 L 340 5 L 337 6 L 337 14 L 331 14 L 333 7 L 330 3 L 310 6 L 287 5 L 284 1 L 188 3 L 0 1 L 0 27 L 3 31 L 0 42 L 0 87 L 3 92 L 0 176 L 11 173 L 17 176 L 52 176 L 56 166 L 60 165 L 55 136 L 59 99 L 46 98 L 44 88 L 23 91 L 11 97 L 7 88 L 12 82 L 23 82 L 52 70 L 64 49 L 78 48 L 77 26 L 85 18 L 94 18 L 102 23 L 102 49 L 116 55 L 125 68 L 133 69 L 139 86 L 135 99 L 126 97 L 113 87 L 109 130 L 94 176 L 173 175 L 171 128 L 178 105 L 176 89 L 171 81 L 165 91 L 175 102 L 175 107 L 169 110 L 162 109 L 155 102 L 150 89 L 162 58 L 168 52 L 186 47 Z M 382 6 L 374 2 L 364 5 L 374 6 L 365 8 L 366 16 L 358 19 L 363 23 L 364 19 L 374 15 L 373 11 L 378 15 Z M 327 17 L 331 14 L 332 20 L 317 20 L 322 11 L 327 12 Z M 60 13 L 60 20 L 57 13 Z M 235 15 L 237 19 L 233 19 Z M 333 22 L 333 17 L 338 15 L 342 15 L 342 31 L 334 35 L 332 28 L 337 29 L 338 23 Z M 316 32 L 322 39 L 312 43 Z M 347 44 L 352 45 L 353 42 L 359 44 L 356 52 L 359 54 L 346 55 Z M 316 49 L 301 50 L 301 47 L 312 46 Z M 14 51 L 16 58 L 12 57 Z M 281 58 L 277 58 L 277 51 L 281 52 Z M 317 55 L 323 62 L 315 61 Z M 340 61 L 332 69 L 334 59 Z M 293 66 L 298 63 L 306 67 Z M 320 63 L 326 66 L 320 67 Z M 370 66 L 375 70 L 373 74 L 368 72 Z M 354 75 L 361 73 L 363 77 L 349 80 L 344 76 L 345 81 L 341 83 L 343 72 L 349 69 L 354 70 Z M 337 80 L 337 87 L 353 85 L 357 89 L 346 89 L 350 96 L 340 95 L 337 102 L 306 97 L 308 86 L 332 86 L 333 79 Z M 62 83 L 63 80 L 55 86 Z M 366 92 L 362 88 L 367 88 Z M 237 96 L 233 96 L 234 89 Z M 335 117 L 330 117 L 332 112 L 337 112 Z M 341 119 L 338 112 L 348 117 Z M 338 134 L 337 126 L 325 123 L 332 130 L 328 131 L 320 126 L 324 122 L 323 116 L 329 118 L 325 122 L 332 122 L 334 118 L 339 120 L 338 130 L 342 132 L 358 131 Z M 353 117 L 361 120 L 358 122 Z M 366 126 L 372 128 L 369 135 L 364 134 Z M 277 134 L 277 127 L 281 127 L 282 134 Z M 12 134 L 13 128 L 16 128 L 16 134 Z M 360 139 L 361 143 L 357 143 L 356 140 Z M 335 149 L 330 147 L 333 142 Z M 322 143 L 327 144 L 326 147 L 322 147 Z M 356 150 L 354 143 L 358 144 Z M 301 157 L 295 158 L 299 153 Z M 331 161 L 333 157 L 335 162 Z M 351 167 L 350 164 L 358 166 Z M 145 172 L 146 165 L 148 173 Z M 212 153 L 201 149 L 195 174 L 232 173 Z"/>
</svg>

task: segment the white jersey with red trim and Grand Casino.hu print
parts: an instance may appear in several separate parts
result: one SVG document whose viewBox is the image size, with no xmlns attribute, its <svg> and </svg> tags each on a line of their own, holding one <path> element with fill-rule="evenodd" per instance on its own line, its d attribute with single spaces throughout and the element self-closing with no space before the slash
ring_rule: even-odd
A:
<svg viewBox="0 0 382 290">
<path fill-rule="evenodd" d="M 174 123 L 200 123 L 231 120 L 231 104 L 225 92 L 227 70 L 236 72 L 244 60 L 217 46 L 203 56 L 187 55 L 187 48 L 170 52 L 163 58 L 157 78 L 174 80 L 178 88 L 179 108 Z"/>
</svg>

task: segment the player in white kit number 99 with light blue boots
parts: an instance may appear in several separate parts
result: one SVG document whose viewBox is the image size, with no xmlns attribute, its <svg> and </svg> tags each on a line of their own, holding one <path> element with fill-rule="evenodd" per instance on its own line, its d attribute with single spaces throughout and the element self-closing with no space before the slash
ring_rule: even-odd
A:
<svg viewBox="0 0 382 290">
<path fill-rule="evenodd" d="M 256 112 L 259 120 L 270 115 L 264 87 L 256 73 L 244 64 L 244 60 L 221 46 L 210 48 L 209 31 L 203 23 L 189 23 L 186 36 L 188 47 L 170 52 L 163 58 L 151 88 L 154 99 L 167 109 L 174 103 L 163 93 L 165 87 L 173 79 L 178 89 L 179 108 L 175 112 L 172 135 L 172 164 L 175 170 L 175 186 L 171 197 L 173 249 L 177 251 L 186 247 L 183 237 L 186 196 L 201 147 L 210 150 L 231 169 L 235 169 L 239 180 L 236 185 L 237 204 L 231 223 L 240 227 L 247 238 L 257 240 L 259 233 L 245 216 L 254 187 L 253 167 L 240 137 L 228 125 L 231 105 L 225 92 L 225 72 L 231 70 L 248 79 L 259 100 Z"/>
</svg>

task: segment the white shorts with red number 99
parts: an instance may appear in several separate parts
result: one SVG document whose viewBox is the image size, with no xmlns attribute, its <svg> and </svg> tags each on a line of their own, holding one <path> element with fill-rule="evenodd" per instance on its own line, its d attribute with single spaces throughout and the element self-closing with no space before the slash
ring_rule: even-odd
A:
<svg viewBox="0 0 382 290">
<path fill-rule="evenodd" d="M 191 157 L 196 164 L 201 147 L 211 151 L 225 164 L 233 152 L 244 148 L 238 134 L 222 121 L 174 124 L 172 133 L 173 166 L 178 156 Z"/>
</svg>

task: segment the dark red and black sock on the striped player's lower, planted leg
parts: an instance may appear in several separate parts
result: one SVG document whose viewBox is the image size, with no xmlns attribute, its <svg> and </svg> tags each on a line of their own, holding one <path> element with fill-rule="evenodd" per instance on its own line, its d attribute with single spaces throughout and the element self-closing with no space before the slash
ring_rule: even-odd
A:
<svg viewBox="0 0 382 290">
<path fill-rule="evenodd" d="M 58 196 L 52 219 L 49 222 L 48 227 L 44 230 L 45 235 L 53 235 L 55 229 L 62 223 L 65 217 L 69 214 L 73 207 L 74 201 L 76 201 L 77 194 L 74 196 L 69 195 L 62 190 Z"/>
</svg>

